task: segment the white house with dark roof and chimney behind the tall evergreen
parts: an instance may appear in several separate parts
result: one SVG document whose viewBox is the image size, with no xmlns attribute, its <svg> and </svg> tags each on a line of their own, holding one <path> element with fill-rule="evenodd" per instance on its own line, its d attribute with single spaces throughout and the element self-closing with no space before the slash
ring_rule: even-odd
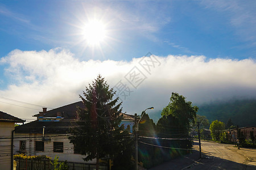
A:
<svg viewBox="0 0 256 170">
<path fill-rule="evenodd" d="M 69 143 L 68 130 L 72 126 L 72 121 L 77 119 L 77 107 L 84 108 L 82 101 L 65 105 L 56 109 L 47 111 L 43 108 L 42 112 L 35 114 L 36 121 L 18 126 L 15 128 L 15 153 L 24 153 L 27 155 L 47 155 L 54 158 L 59 156 L 60 161 L 72 163 L 85 163 L 72 143 Z M 134 120 L 133 116 L 122 113 L 125 117 L 123 123 L 130 125 Z M 88 164 L 96 163 L 96 160 L 86 162 Z"/>
</svg>

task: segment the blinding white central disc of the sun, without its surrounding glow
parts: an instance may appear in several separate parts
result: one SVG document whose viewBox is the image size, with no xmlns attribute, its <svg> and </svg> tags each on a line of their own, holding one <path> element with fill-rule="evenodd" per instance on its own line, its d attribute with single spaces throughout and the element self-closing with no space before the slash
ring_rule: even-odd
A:
<svg viewBox="0 0 256 170">
<path fill-rule="evenodd" d="M 106 36 L 105 25 L 100 21 L 94 20 L 85 25 L 84 38 L 88 45 L 99 45 Z"/>
</svg>

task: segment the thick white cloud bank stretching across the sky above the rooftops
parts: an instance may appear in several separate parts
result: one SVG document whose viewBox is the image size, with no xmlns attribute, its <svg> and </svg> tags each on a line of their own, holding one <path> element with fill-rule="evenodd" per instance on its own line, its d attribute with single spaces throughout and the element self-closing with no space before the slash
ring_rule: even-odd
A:
<svg viewBox="0 0 256 170">
<path fill-rule="evenodd" d="M 179 92 L 197 104 L 233 96 L 256 97 L 256 63 L 253 59 L 155 57 L 161 64 L 151 68 L 151 74 L 148 74 L 139 65 L 142 58 L 133 58 L 132 61 L 79 61 L 65 49 L 48 52 L 13 50 L 1 58 L 0 63 L 8 66 L 6 75 L 15 83 L 0 91 L 0 96 L 56 108 L 79 101 L 79 94 L 85 86 L 97 74 L 102 74 L 110 87 L 119 80 L 129 85 L 133 92 L 123 101 L 123 111 L 130 114 L 140 113 L 151 106 L 156 110 L 162 109 L 168 104 L 171 92 Z M 137 89 L 125 79 L 134 66 L 147 76 Z M 20 118 L 31 118 L 38 111 L 15 105 L 41 109 L 1 98 L 0 102 L 1 111 Z"/>
</svg>

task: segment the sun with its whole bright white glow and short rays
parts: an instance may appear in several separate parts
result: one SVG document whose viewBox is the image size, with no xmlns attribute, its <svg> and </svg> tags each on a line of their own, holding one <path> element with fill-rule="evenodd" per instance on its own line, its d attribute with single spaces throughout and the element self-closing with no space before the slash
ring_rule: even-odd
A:
<svg viewBox="0 0 256 170">
<path fill-rule="evenodd" d="M 79 46 L 81 54 L 88 54 L 91 57 L 105 58 L 106 51 L 115 50 L 114 43 L 117 29 L 114 28 L 114 21 L 108 18 L 108 14 L 100 11 L 85 11 L 84 15 L 75 15 L 76 20 L 69 23 L 74 29 L 70 36 L 73 36 L 71 46 Z"/>
</svg>

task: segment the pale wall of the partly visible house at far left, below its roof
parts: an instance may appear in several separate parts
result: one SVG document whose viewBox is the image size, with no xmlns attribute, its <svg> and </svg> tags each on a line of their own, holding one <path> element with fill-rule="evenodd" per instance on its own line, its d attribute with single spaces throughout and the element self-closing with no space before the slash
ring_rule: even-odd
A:
<svg viewBox="0 0 256 170">
<path fill-rule="evenodd" d="M 0 169 L 11 169 L 11 131 L 14 122 L 0 122 Z"/>
</svg>

